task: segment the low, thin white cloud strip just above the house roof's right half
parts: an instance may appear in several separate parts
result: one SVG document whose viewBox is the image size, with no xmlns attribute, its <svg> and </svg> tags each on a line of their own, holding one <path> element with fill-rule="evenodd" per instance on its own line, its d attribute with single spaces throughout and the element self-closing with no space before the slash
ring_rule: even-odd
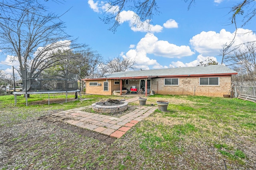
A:
<svg viewBox="0 0 256 170">
<path fill-rule="evenodd" d="M 174 66 L 174 67 L 195 67 L 197 65 L 200 65 L 200 62 L 205 61 L 207 58 L 217 61 L 216 57 L 211 57 L 211 56 L 204 57 L 200 54 L 197 56 L 196 60 L 191 61 L 189 63 L 183 63 L 182 61 L 177 61 L 177 62 L 173 61 L 169 66 L 170 67 L 172 67 L 172 66 Z"/>
</svg>

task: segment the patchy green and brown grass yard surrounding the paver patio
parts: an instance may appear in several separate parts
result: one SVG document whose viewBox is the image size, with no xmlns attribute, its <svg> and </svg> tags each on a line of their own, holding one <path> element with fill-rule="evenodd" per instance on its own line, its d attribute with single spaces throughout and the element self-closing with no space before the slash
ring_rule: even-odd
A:
<svg viewBox="0 0 256 170">
<path fill-rule="evenodd" d="M 254 169 L 256 103 L 222 97 L 154 95 L 169 101 L 112 144 L 44 117 L 117 96 L 50 103 L 48 95 L 0 96 L 0 169 Z M 50 97 L 53 99 L 53 96 Z M 55 95 L 54 99 L 65 95 Z M 68 95 L 74 98 L 74 95 Z M 46 102 L 43 102 L 46 101 Z M 129 105 L 138 105 L 138 101 Z"/>
</svg>

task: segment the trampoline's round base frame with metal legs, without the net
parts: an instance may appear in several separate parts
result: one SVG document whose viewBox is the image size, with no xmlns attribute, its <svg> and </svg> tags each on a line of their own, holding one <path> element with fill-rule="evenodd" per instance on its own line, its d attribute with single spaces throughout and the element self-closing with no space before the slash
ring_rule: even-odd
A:
<svg viewBox="0 0 256 170">
<path fill-rule="evenodd" d="M 80 90 L 72 90 L 72 91 L 35 91 L 35 92 L 14 92 L 14 105 L 17 104 L 17 95 L 25 95 L 26 97 L 26 106 L 28 106 L 28 94 L 48 94 L 48 105 L 50 105 L 50 94 L 54 93 L 66 93 L 66 103 L 68 98 L 68 93 L 76 93 L 76 99 L 78 100 L 77 93 L 80 93 Z"/>
</svg>

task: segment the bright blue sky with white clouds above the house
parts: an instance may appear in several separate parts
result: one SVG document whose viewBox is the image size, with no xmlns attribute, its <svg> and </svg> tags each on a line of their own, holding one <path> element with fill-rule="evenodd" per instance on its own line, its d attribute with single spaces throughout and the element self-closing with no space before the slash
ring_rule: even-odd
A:
<svg viewBox="0 0 256 170">
<path fill-rule="evenodd" d="M 41 1 L 49 11 L 63 14 L 66 32 L 78 38 L 78 42 L 90 45 L 105 59 L 122 56 L 136 60 L 137 69 L 159 69 L 168 67 L 196 66 L 207 57 L 221 62 L 221 45 L 234 38 L 235 26 L 230 24 L 230 7 L 240 0 L 196 0 L 187 9 L 183 0 L 157 0 L 160 14 L 152 19 L 151 32 L 142 28 L 132 28 L 134 12 L 121 12 L 122 24 L 115 34 L 108 30 L 111 24 L 104 24 L 99 17 L 104 16 L 107 1 L 66 0 Z M 256 1 L 255 1 L 256 3 Z M 256 4 L 254 4 L 256 5 Z M 237 18 L 238 34 L 235 44 L 256 41 L 256 34 L 243 34 L 256 29 L 256 18 L 241 28 L 242 17 Z M 8 54 L 0 56 L 7 65 Z M 6 72 L 11 67 L 0 63 Z"/>
</svg>

